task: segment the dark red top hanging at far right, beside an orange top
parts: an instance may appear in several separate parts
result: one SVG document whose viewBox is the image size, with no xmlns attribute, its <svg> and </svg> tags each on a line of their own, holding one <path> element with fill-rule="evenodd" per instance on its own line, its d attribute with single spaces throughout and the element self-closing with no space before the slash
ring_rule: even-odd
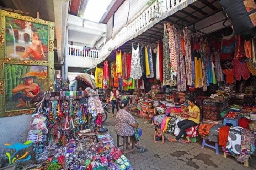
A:
<svg viewBox="0 0 256 170">
<path fill-rule="evenodd" d="M 249 79 L 250 72 L 246 62 L 241 62 L 237 59 L 233 59 L 232 64 L 234 66 L 234 75 L 236 80 L 240 81 L 241 77 L 243 77 L 244 80 Z"/>
</svg>

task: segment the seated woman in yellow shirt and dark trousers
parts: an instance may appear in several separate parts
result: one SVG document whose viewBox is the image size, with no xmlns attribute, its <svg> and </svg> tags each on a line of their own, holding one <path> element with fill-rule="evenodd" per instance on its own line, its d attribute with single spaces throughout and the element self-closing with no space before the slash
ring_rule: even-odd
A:
<svg viewBox="0 0 256 170">
<path fill-rule="evenodd" d="M 186 137 L 185 140 L 182 140 L 182 143 L 191 143 L 190 138 L 187 136 L 186 129 L 192 126 L 196 126 L 199 124 L 200 121 L 200 109 L 196 106 L 195 101 L 193 98 L 188 99 L 188 107 L 183 110 L 183 114 L 188 115 L 188 119 L 182 120 L 177 123 L 178 127 L 180 128 L 180 133 L 176 138 L 168 138 L 170 142 L 177 142 L 182 135 Z"/>
</svg>

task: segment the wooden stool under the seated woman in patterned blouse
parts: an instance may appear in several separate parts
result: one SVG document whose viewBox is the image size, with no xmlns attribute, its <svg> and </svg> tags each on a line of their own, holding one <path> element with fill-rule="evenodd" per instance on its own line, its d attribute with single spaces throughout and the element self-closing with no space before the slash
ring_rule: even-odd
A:
<svg viewBox="0 0 256 170">
<path fill-rule="evenodd" d="M 122 145 L 120 145 L 120 137 L 123 138 L 123 144 Z M 133 143 L 131 149 L 129 149 L 129 137 L 130 137 L 130 139 L 132 140 L 132 143 Z M 119 147 L 123 146 L 123 149 L 120 148 L 123 154 L 131 153 L 131 152 L 134 154 L 135 150 L 136 150 L 135 142 L 136 141 L 135 141 L 134 136 L 119 136 L 119 135 L 117 135 L 117 147 L 119 148 Z"/>
</svg>

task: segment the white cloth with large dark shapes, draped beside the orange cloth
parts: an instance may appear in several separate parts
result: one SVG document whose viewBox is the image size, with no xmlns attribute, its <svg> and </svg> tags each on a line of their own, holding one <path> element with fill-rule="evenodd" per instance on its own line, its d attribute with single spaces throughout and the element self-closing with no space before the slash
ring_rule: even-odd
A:
<svg viewBox="0 0 256 170">
<path fill-rule="evenodd" d="M 228 142 L 226 148 L 231 149 L 234 154 L 239 155 L 241 149 L 242 127 L 236 126 L 229 129 Z"/>
</svg>

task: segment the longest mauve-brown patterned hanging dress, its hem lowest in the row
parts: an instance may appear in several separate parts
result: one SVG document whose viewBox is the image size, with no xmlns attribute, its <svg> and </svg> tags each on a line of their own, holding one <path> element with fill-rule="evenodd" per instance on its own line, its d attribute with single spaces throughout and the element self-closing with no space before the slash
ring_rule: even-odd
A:
<svg viewBox="0 0 256 170">
<path fill-rule="evenodd" d="M 174 41 L 176 48 L 176 57 L 177 57 L 177 91 L 186 91 L 186 71 L 185 71 L 185 60 L 181 50 L 181 34 L 178 33 L 176 28 L 173 28 L 174 32 Z"/>
</svg>

